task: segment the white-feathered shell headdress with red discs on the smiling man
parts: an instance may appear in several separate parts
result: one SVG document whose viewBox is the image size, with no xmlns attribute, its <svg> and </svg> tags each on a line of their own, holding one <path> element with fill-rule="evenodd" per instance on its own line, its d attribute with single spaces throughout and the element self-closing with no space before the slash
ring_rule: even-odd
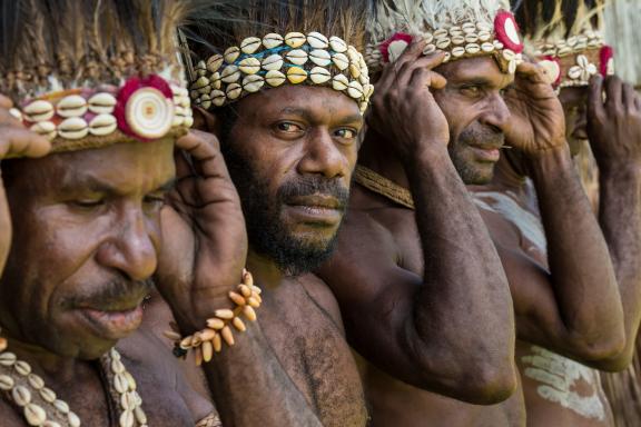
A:
<svg viewBox="0 0 641 427">
<path fill-rule="evenodd" d="M 371 68 L 396 60 L 415 36 L 426 40 L 424 53 L 444 51 L 445 62 L 493 56 L 513 73 L 522 60 L 507 0 L 379 0 L 368 28 Z"/>
</svg>

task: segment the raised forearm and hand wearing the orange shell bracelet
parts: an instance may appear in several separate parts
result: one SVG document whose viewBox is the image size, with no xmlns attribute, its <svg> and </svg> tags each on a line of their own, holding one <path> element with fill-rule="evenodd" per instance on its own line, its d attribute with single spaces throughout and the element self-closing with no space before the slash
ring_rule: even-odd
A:
<svg viewBox="0 0 641 427">
<path fill-rule="evenodd" d="M 247 252 L 236 189 L 209 133 L 178 142 L 177 186 L 164 211 L 157 285 L 184 336 L 201 330 L 215 310 L 233 308 Z M 225 426 L 320 426 L 276 358 L 258 321 L 247 322 L 210 363 L 203 364 Z"/>
</svg>

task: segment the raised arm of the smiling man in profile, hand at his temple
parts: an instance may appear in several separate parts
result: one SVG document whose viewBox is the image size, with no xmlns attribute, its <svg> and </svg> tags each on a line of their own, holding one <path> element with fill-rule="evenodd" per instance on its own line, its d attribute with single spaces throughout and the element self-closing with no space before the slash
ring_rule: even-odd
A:
<svg viewBox="0 0 641 427">
<path fill-rule="evenodd" d="M 574 170 L 559 99 L 532 63 L 507 93 L 507 143 L 523 157 L 536 189 L 549 272 L 517 248 L 502 247 L 517 336 L 593 367 L 624 345 L 621 298 L 608 246 Z"/>
</svg>

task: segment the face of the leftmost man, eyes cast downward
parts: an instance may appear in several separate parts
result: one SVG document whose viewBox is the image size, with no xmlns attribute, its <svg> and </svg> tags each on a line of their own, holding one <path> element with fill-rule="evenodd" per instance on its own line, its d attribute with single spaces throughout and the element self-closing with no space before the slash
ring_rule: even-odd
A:
<svg viewBox="0 0 641 427">
<path fill-rule="evenodd" d="M 10 336 L 93 359 L 139 326 L 172 148 L 128 142 L 2 165 L 13 240 L 0 321 Z"/>
</svg>

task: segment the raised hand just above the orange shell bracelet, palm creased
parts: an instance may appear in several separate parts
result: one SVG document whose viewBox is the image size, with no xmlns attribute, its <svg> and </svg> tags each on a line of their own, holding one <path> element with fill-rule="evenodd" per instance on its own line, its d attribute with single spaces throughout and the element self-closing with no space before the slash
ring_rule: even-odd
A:
<svg viewBox="0 0 641 427">
<path fill-rule="evenodd" d="M 201 329 L 240 282 L 247 237 L 240 200 L 215 136 L 193 130 L 177 142 L 176 188 L 162 210 L 156 281 L 183 332 Z"/>
</svg>

